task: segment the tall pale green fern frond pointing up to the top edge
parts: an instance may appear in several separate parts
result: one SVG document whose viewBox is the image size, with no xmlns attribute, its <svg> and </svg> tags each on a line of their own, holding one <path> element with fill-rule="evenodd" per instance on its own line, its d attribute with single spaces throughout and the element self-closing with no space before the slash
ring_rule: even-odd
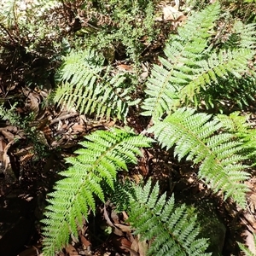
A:
<svg viewBox="0 0 256 256">
<path fill-rule="evenodd" d="M 214 3 L 193 15 L 166 45 L 168 60 L 160 58 L 162 67 L 153 67 L 145 90 L 148 98 L 143 102 L 143 115 L 158 118 L 168 113 L 179 91 L 193 81 L 194 73 L 201 68 L 197 62 L 204 55 L 218 13 L 219 4 Z"/>
</svg>

